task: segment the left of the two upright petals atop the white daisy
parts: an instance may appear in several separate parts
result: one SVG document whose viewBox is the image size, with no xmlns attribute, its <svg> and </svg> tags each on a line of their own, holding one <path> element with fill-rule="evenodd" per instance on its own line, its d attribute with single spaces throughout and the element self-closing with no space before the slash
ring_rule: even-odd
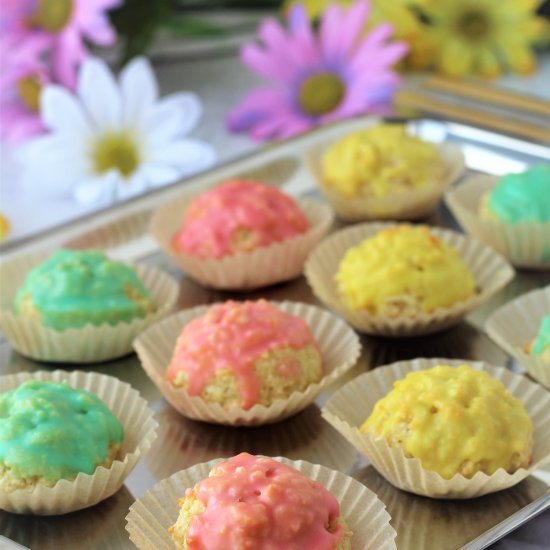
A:
<svg viewBox="0 0 550 550">
<path fill-rule="evenodd" d="M 95 127 L 120 129 L 122 105 L 116 80 L 104 61 L 88 59 L 80 68 L 78 95 Z"/>
</svg>

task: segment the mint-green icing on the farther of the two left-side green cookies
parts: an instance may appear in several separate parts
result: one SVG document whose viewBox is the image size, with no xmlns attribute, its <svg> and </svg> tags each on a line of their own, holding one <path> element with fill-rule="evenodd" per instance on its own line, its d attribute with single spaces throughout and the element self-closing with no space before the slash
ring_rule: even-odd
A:
<svg viewBox="0 0 550 550">
<path fill-rule="evenodd" d="M 14 309 L 20 313 L 30 297 L 42 323 L 56 330 L 144 317 L 143 304 L 127 296 L 128 288 L 144 299 L 150 296 L 132 267 L 99 250 L 58 250 L 27 275 Z"/>
</svg>

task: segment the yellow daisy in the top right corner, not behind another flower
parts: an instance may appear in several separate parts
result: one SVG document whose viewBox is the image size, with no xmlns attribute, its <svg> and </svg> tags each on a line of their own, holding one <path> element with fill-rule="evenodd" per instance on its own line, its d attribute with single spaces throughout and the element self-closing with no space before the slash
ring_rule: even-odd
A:
<svg viewBox="0 0 550 550">
<path fill-rule="evenodd" d="M 409 63 L 449 76 L 530 73 L 536 67 L 531 45 L 548 32 L 535 15 L 541 2 L 432 0 L 424 7 L 429 25 L 412 45 Z"/>
</svg>

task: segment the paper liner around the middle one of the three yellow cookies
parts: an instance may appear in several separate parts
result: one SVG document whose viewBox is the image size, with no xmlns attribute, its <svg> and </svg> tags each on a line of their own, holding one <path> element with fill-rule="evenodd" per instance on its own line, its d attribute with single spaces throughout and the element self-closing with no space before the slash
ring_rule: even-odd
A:
<svg viewBox="0 0 550 550">
<path fill-rule="evenodd" d="M 365 223 L 338 231 L 322 241 L 310 254 L 304 273 L 313 293 L 350 325 L 369 334 L 403 337 L 431 334 L 456 325 L 466 315 L 503 288 L 514 270 L 499 254 L 474 239 L 454 231 L 430 227 L 430 232 L 458 250 L 476 280 L 477 292 L 467 300 L 431 313 L 419 312 L 397 318 L 351 310 L 340 297 L 334 280 L 344 254 L 392 223 Z"/>
</svg>

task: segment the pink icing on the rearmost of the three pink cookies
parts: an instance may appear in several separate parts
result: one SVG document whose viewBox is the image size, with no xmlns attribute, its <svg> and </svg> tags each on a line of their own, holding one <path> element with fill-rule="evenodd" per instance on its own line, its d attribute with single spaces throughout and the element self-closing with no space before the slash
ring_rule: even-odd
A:
<svg viewBox="0 0 550 550">
<path fill-rule="evenodd" d="M 190 256 L 222 258 L 235 253 L 234 238 L 240 229 L 254 233 L 256 248 L 304 233 L 309 221 L 291 197 L 274 187 L 228 181 L 189 205 L 172 246 Z"/>
</svg>

